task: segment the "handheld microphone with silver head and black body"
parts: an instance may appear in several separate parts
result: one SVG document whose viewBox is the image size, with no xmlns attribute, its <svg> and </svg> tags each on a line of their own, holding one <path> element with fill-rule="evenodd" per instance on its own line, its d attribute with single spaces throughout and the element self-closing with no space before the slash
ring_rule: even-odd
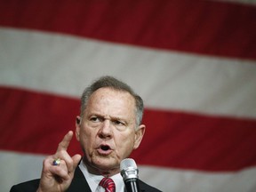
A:
<svg viewBox="0 0 256 192">
<path fill-rule="evenodd" d="M 127 192 L 139 192 L 139 176 L 135 161 L 132 158 L 126 158 L 120 164 L 121 175 Z"/>
</svg>

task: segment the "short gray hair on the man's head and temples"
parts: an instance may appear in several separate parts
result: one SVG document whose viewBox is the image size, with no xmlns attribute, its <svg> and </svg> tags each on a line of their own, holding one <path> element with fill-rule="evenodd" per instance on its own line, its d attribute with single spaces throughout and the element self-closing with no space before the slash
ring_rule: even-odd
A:
<svg viewBox="0 0 256 192">
<path fill-rule="evenodd" d="M 142 121 L 143 110 L 144 110 L 143 100 L 140 98 L 139 95 L 133 92 L 132 88 L 128 84 L 125 84 L 120 80 L 117 80 L 113 76 L 102 76 L 98 80 L 96 80 L 94 83 L 92 83 L 90 86 L 85 88 L 81 97 L 80 116 L 81 117 L 84 116 L 84 110 L 87 106 L 87 102 L 90 99 L 92 93 L 103 87 L 109 87 L 116 91 L 129 92 L 132 95 L 132 97 L 135 100 L 136 124 L 137 126 L 139 126 Z"/>
</svg>

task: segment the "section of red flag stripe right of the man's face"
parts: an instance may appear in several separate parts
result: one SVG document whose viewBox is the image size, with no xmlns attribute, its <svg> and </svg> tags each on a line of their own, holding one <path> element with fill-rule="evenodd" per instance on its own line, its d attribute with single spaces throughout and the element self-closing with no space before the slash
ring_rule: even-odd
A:
<svg viewBox="0 0 256 192">
<path fill-rule="evenodd" d="M 256 120 L 146 110 L 141 164 L 236 171 L 256 164 Z"/>
</svg>

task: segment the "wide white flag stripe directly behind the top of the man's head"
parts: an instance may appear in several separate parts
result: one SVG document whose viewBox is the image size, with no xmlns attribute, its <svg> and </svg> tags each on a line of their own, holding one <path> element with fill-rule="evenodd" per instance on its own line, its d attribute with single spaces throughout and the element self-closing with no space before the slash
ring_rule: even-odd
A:
<svg viewBox="0 0 256 192">
<path fill-rule="evenodd" d="M 256 117 L 256 62 L 0 28 L 0 84 L 79 97 L 102 75 L 122 78 L 148 108 Z"/>
</svg>

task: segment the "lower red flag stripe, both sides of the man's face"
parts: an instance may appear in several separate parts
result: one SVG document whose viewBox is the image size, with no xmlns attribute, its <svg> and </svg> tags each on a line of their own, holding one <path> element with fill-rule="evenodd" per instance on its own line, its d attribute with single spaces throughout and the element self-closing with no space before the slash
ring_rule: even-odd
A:
<svg viewBox="0 0 256 192">
<path fill-rule="evenodd" d="M 52 154 L 75 129 L 78 100 L 4 87 L 0 100 L 1 149 Z M 144 123 L 146 136 L 132 154 L 138 164 L 204 171 L 256 165 L 256 120 L 146 109 Z M 75 139 L 69 152 L 81 153 Z"/>
</svg>

